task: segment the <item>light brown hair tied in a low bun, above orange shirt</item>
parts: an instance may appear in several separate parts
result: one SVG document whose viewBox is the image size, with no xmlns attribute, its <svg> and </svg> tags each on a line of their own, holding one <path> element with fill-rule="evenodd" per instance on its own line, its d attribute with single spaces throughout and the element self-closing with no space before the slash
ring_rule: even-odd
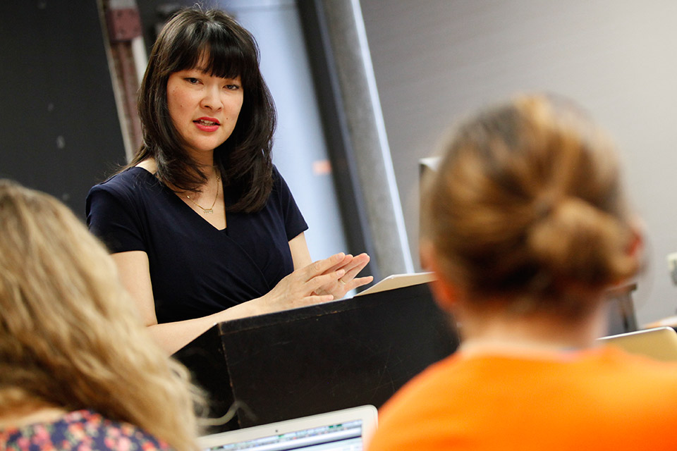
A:
<svg viewBox="0 0 677 451">
<path fill-rule="evenodd" d="M 568 99 L 522 95 L 470 118 L 423 199 L 424 240 L 478 307 L 580 316 L 638 271 L 614 145 Z"/>
</svg>

